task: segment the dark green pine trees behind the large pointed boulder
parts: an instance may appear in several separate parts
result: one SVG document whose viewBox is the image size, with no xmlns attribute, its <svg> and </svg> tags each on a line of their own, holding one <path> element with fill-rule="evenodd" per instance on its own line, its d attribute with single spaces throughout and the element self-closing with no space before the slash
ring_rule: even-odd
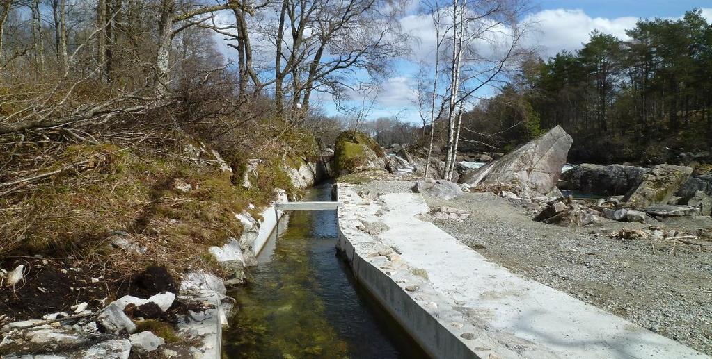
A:
<svg viewBox="0 0 712 359">
<path fill-rule="evenodd" d="M 712 146 L 712 24 L 695 9 L 594 31 L 575 53 L 530 60 L 465 116 L 466 144 L 513 147 L 560 124 L 580 161 L 675 161 Z M 466 146 L 466 145 L 465 145 Z"/>
</svg>

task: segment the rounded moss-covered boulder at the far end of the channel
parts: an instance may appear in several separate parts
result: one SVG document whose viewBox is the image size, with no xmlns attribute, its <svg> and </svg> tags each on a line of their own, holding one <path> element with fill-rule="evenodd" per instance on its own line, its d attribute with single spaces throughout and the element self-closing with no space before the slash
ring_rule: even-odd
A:
<svg viewBox="0 0 712 359">
<path fill-rule="evenodd" d="M 345 131 L 335 143 L 334 165 L 338 174 L 385 168 L 385 154 L 367 134 Z"/>
</svg>

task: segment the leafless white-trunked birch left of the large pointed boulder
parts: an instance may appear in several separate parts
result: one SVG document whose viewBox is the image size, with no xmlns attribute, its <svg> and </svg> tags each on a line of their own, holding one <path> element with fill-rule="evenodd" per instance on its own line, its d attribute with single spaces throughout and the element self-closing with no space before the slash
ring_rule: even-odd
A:
<svg viewBox="0 0 712 359">
<path fill-rule="evenodd" d="M 525 51 L 521 40 L 528 24 L 521 23 L 520 18 L 528 7 L 525 0 L 453 0 L 447 4 L 426 4 L 429 6 L 424 7 L 430 14 L 449 14 L 449 23 L 438 33 L 438 41 L 447 39 L 450 51 L 450 78 L 443 95 L 447 106 L 441 106 L 441 112 L 432 117 L 437 119 L 445 112 L 444 178 L 449 180 L 454 174 L 464 106 L 478 90 L 492 85 L 507 68 L 522 60 Z"/>
</svg>

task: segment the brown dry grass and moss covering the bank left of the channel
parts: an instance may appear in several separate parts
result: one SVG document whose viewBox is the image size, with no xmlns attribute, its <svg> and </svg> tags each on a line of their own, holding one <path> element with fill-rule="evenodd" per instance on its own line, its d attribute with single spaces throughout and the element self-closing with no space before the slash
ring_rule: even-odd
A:
<svg viewBox="0 0 712 359">
<path fill-rule="evenodd" d="M 23 171 L 35 154 L 41 166 Z M 267 205 L 274 188 L 292 188 L 280 169 L 293 150 L 266 158 L 258 167 L 252 188 L 234 185 L 231 172 L 215 164 L 197 163 L 180 154 L 182 146 L 160 151 L 115 145 L 39 146 L 4 159 L 14 161 L 13 178 L 35 176 L 66 164 L 96 159 L 90 166 L 72 168 L 33 183 L 13 188 L 0 199 L 0 259 L 15 255 L 73 255 L 96 263 L 110 263 L 121 275 L 159 265 L 174 274 L 209 268 L 219 272 L 207 247 L 239 237 L 243 228 L 235 213 L 248 204 Z M 274 152 L 273 152 L 274 153 Z M 240 162 L 245 159 L 230 159 Z M 176 185 L 189 184 L 190 191 Z M 112 233 L 121 232 L 139 253 L 115 250 Z"/>
</svg>

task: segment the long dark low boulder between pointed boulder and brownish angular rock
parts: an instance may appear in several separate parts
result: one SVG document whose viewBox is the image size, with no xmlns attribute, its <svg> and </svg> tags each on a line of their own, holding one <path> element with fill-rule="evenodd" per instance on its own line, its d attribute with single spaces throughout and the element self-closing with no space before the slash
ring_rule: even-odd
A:
<svg viewBox="0 0 712 359">
<path fill-rule="evenodd" d="M 612 164 L 580 164 L 562 173 L 563 189 L 596 193 L 599 195 L 624 195 L 636 188 L 648 168 Z"/>
</svg>

